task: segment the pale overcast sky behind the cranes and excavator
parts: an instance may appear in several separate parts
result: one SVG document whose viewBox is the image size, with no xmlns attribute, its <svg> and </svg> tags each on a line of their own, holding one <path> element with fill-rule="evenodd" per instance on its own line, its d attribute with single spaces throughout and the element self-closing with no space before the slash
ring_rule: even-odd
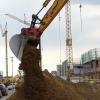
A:
<svg viewBox="0 0 100 100">
<path fill-rule="evenodd" d="M 8 23 L 8 41 L 14 34 L 19 34 L 25 25 L 4 16 L 5 13 L 13 14 L 21 19 L 31 20 L 31 15 L 36 14 L 42 7 L 44 0 L 0 0 L 0 24 L 3 28 Z M 53 1 L 53 0 L 51 0 Z M 82 4 L 82 32 L 80 21 L 79 4 Z M 49 5 L 50 6 L 50 5 Z M 45 14 L 48 8 L 42 11 Z M 99 0 L 72 0 L 71 1 L 71 24 L 73 37 L 73 56 L 80 58 L 81 54 L 93 49 L 100 48 L 100 1 Z M 43 69 L 55 70 L 56 65 L 66 59 L 66 32 L 65 32 L 65 11 L 60 12 L 60 35 L 61 35 L 61 57 L 59 41 L 59 17 L 49 25 L 42 35 L 42 65 Z M 0 70 L 5 74 L 5 49 L 4 38 L 0 35 Z M 9 57 L 14 56 L 9 49 Z M 14 73 L 17 73 L 19 61 L 14 57 Z M 11 75 L 11 59 L 9 58 L 9 75 Z"/>
</svg>

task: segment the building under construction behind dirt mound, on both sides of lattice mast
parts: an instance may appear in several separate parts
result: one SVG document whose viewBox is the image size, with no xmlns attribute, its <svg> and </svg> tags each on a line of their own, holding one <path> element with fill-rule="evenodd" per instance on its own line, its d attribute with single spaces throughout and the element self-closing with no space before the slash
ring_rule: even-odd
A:
<svg viewBox="0 0 100 100">
<path fill-rule="evenodd" d="M 57 65 L 57 75 L 63 79 L 67 78 L 67 61 Z M 71 70 L 71 77 L 88 79 L 100 79 L 100 49 L 91 49 L 81 55 L 80 61 L 74 61 Z"/>
</svg>

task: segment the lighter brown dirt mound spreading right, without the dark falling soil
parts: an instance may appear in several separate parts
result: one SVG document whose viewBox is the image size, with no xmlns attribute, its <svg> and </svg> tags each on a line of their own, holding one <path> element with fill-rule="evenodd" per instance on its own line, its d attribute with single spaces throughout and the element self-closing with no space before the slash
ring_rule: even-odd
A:
<svg viewBox="0 0 100 100">
<path fill-rule="evenodd" d="M 53 77 L 47 70 L 43 72 L 43 75 L 45 90 L 42 93 L 41 90 L 33 88 L 33 91 L 37 91 L 37 94 L 31 93 L 32 96 L 29 99 L 25 96 L 27 94 L 24 94 L 24 91 L 17 90 L 8 100 L 100 100 L 100 86 L 96 84 L 67 83 L 59 77 Z"/>
</svg>

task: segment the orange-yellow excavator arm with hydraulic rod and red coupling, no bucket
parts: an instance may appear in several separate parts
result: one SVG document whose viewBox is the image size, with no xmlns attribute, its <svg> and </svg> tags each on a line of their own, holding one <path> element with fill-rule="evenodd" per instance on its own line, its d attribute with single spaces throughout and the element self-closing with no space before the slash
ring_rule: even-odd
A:
<svg viewBox="0 0 100 100">
<path fill-rule="evenodd" d="M 42 9 L 46 7 L 50 1 L 51 0 L 46 0 L 43 3 Z M 32 35 L 33 38 L 39 39 L 43 31 L 49 26 L 49 24 L 53 21 L 53 19 L 57 16 L 57 14 L 60 12 L 60 10 L 68 1 L 69 0 L 54 0 L 53 4 L 49 8 L 49 10 L 46 12 L 42 20 L 38 18 L 38 14 L 42 11 L 42 9 L 36 15 L 33 14 L 31 27 L 22 29 L 22 33 L 27 34 L 29 36 Z M 38 28 L 35 27 L 35 25 L 37 24 L 37 21 L 40 21 L 40 23 L 38 23 L 40 24 Z"/>
</svg>

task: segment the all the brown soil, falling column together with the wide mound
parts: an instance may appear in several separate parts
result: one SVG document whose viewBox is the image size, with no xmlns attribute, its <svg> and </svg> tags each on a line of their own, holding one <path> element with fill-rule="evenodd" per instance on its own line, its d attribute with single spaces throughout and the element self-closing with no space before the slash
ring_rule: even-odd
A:
<svg viewBox="0 0 100 100">
<path fill-rule="evenodd" d="M 72 84 L 53 77 L 47 70 L 41 71 L 40 59 L 38 49 L 26 44 L 19 66 L 24 81 L 7 100 L 100 100 L 100 86 Z"/>
</svg>

